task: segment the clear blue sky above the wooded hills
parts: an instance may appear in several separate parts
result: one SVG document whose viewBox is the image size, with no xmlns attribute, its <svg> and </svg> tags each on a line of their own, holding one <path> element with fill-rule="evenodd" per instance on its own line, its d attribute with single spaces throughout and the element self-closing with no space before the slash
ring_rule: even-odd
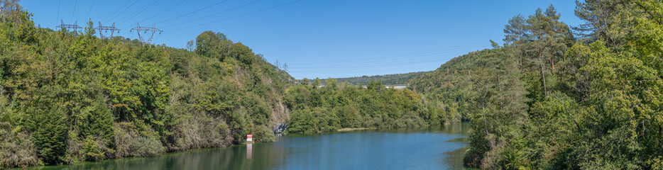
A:
<svg viewBox="0 0 663 170">
<path fill-rule="evenodd" d="M 156 44 L 184 48 L 204 30 L 242 42 L 292 77 L 328 78 L 431 71 L 451 58 L 502 42 L 508 19 L 553 4 L 577 26 L 575 1 L 23 0 L 43 28 L 136 23 L 164 30 Z"/>
</svg>

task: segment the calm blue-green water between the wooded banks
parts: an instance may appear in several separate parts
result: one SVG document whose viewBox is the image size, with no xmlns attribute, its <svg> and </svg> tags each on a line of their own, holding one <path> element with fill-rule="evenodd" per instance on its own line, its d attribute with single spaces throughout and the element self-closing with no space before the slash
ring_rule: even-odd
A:
<svg viewBox="0 0 663 170">
<path fill-rule="evenodd" d="M 288 135 L 277 142 L 38 169 L 464 169 L 469 124 Z"/>
</svg>

